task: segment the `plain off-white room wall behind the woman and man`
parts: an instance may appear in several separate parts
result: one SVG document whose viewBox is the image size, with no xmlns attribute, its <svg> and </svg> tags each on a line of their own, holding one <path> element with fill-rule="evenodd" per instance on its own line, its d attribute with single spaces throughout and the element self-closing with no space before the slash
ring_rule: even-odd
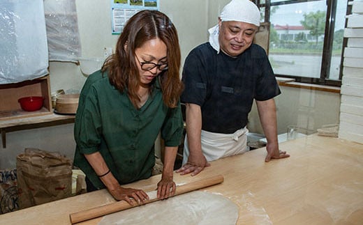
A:
<svg viewBox="0 0 363 225">
<path fill-rule="evenodd" d="M 179 33 L 182 62 L 188 52 L 202 42 L 206 42 L 207 29 L 217 22 L 218 14 L 229 0 L 160 0 L 161 11 L 172 19 Z M 77 0 L 77 17 L 82 45 L 82 58 L 103 58 L 103 48 L 113 47 L 118 36 L 111 34 L 110 1 Z M 86 77 L 75 63 L 50 63 L 51 91 L 80 91 Z M 279 133 L 285 132 L 286 125 L 309 124 L 316 129 L 321 124 L 336 123 L 339 114 L 340 96 L 320 91 L 306 91 L 299 88 L 281 88 L 283 93 L 276 98 L 278 107 Z M 306 104 L 309 108 L 307 110 Z M 313 110 L 313 111 L 312 111 Z M 327 116 L 328 115 L 328 116 Z M 262 132 L 258 116 L 252 111 L 251 132 Z M 73 125 L 59 125 L 34 130 L 22 130 L 6 134 L 6 148 L 0 149 L 0 169 L 15 168 L 16 156 L 24 148 L 40 148 L 57 151 L 73 158 L 75 141 Z"/>
</svg>

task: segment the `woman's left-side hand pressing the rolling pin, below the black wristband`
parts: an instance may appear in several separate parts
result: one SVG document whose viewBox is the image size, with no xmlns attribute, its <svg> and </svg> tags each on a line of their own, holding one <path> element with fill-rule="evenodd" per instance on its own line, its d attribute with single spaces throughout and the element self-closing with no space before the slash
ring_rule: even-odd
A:
<svg viewBox="0 0 363 225">
<path fill-rule="evenodd" d="M 130 205 L 142 205 L 149 200 L 149 196 L 142 189 L 124 188 L 118 186 L 116 189 L 108 189 L 108 192 L 117 201 L 127 201 Z"/>
</svg>

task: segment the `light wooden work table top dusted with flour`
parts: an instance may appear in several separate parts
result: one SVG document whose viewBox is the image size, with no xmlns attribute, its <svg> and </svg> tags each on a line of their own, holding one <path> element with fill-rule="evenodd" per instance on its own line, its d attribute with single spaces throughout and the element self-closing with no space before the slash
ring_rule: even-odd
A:
<svg viewBox="0 0 363 225">
<path fill-rule="evenodd" d="M 362 224 L 363 145 L 316 134 L 281 143 L 291 157 L 264 162 L 259 148 L 212 162 L 198 176 L 222 174 L 207 187 L 239 207 L 237 224 Z M 178 184 L 198 178 L 175 174 Z M 160 176 L 127 185 L 150 191 Z M 103 189 L 0 215 L 1 224 L 70 224 L 69 215 L 112 203 Z M 83 224 L 97 224 L 101 218 Z"/>
</svg>

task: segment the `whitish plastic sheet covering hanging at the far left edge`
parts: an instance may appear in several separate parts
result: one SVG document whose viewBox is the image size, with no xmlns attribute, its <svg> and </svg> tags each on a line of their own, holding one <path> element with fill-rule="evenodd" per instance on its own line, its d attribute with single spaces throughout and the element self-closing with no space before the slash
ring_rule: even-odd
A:
<svg viewBox="0 0 363 225">
<path fill-rule="evenodd" d="M 1 0 L 0 37 L 0 84 L 47 75 L 43 0 Z"/>
</svg>

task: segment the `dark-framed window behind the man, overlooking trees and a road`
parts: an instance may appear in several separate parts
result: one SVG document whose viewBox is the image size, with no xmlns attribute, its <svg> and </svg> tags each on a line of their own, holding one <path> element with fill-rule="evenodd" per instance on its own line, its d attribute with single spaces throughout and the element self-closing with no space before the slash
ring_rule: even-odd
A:
<svg viewBox="0 0 363 225">
<path fill-rule="evenodd" d="M 262 21 L 271 24 L 269 60 L 276 76 L 341 85 L 348 1 L 258 0 Z"/>
</svg>

